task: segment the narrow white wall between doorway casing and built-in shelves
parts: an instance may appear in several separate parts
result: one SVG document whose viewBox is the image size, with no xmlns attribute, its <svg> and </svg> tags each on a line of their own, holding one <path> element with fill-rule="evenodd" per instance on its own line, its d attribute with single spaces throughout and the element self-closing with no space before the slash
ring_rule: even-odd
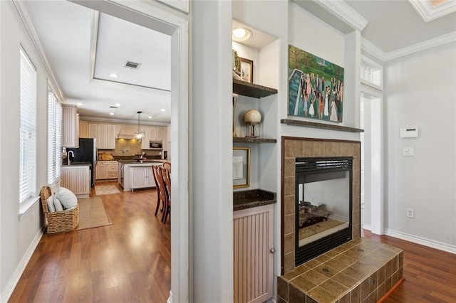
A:
<svg viewBox="0 0 456 303">
<path fill-rule="evenodd" d="M 233 298 L 231 1 L 192 1 L 193 300 Z"/>
</svg>

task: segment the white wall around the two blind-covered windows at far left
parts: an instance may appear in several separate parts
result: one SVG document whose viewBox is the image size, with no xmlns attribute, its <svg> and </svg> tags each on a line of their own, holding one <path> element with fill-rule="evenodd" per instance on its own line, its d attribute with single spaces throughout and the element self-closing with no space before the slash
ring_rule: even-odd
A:
<svg viewBox="0 0 456 303">
<path fill-rule="evenodd" d="M 38 75 L 36 195 L 47 182 L 47 78 L 41 60 L 11 1 L 1 1 L 0 18 L 0 301 L 9 297 L 27 258 L 41 235 L 43 214 L 36 203 L 19 220 L 19 48 L 22 46 Z M 7 152 L 6 150 L 7 149 Z"/>
</svg>

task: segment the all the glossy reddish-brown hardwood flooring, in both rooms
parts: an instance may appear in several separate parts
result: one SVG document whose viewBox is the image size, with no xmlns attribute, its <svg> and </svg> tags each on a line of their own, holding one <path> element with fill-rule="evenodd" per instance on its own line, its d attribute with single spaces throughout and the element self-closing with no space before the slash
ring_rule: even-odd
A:
<svg viewBox="0 0 456 303">
<path fill-rule="evenodd" d="M 154 216 L 156 191 L 101 197 L 113 225 L 43 235 L 9 302 L 166 302 L 170 220 L 163 225 Z M 386 303 L 456 302 L 456 255 L 366 230 L 363 236 L 404 250 L 405 282 Z"/>
</svg>

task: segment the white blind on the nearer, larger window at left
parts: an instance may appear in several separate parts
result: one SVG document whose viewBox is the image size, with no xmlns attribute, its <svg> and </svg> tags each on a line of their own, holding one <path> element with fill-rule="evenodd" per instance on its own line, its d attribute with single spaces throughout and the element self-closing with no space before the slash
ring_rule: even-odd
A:
<svg viewBox="0 0 456 303">
<path fill-rule="evenodd" d="M 19 135 L 19 202 L 36 196 L 36 70 L 21 53 L 21 126 Z"/>
</svg>

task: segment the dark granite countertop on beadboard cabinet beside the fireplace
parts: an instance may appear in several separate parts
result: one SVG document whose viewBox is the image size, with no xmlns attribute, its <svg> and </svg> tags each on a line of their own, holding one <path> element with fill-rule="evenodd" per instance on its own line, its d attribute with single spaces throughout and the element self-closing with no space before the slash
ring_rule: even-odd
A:
<svg viewBox="0 0 456 303">
<path fill-rule="evenodd" d="M 276 203 L 276 193 L 263 189 L 233 192 L 233 211 Z"/>
</svg>

